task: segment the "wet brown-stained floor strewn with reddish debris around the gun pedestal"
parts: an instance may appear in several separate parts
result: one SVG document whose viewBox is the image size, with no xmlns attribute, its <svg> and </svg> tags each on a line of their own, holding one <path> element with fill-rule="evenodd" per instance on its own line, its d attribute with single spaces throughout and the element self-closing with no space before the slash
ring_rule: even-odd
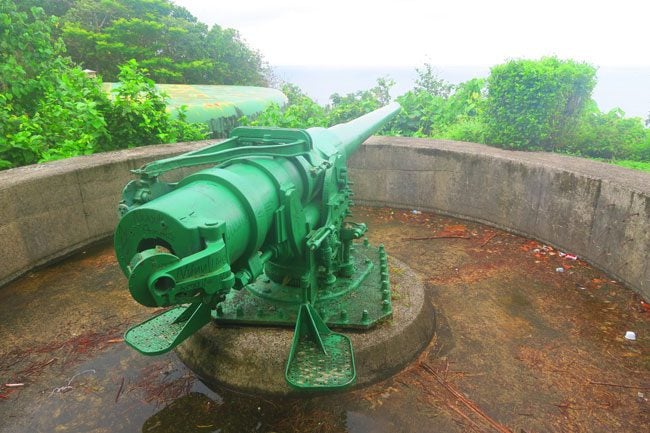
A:
<svg viewBox="0 0 650 433">
<path fill-rule="evenodd" d="M 301 399 L 209 390 L 174 354 L 125 347 L 151 311 L 106 244 L 0 289 L 0 433 L 648 431 L 638 295 L 479 224 L 366 208 L 355 220 L 423 275 L 436 308 L 436 337 L 396 376 Z"/>
</svg>

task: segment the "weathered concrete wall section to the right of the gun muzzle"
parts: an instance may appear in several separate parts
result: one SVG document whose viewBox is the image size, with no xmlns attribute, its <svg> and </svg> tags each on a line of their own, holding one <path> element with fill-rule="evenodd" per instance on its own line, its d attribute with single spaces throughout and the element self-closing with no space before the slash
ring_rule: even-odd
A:
<svg viewBox="0 0 650 433">
<path fill-rule="evenodd" d="M 549 153 L 373 137 L 355 202 L 432 210 L 573 252 L 650 299 L 650 174 Z"/>
</svg>

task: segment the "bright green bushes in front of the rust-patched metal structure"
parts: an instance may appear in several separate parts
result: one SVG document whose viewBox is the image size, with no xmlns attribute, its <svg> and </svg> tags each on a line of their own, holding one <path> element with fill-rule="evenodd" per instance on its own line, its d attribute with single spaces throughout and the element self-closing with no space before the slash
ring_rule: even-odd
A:
<svg viewBox="0 0 650 433">
<path fill-rule="evenodd" d="M 0 0 L 0 169 L 100 150 L 194 140 L 202 125 L 172 119 L 166 97 L 130 61 L 113 99 L 65 55 L 58 20 Z"/>
</svg>

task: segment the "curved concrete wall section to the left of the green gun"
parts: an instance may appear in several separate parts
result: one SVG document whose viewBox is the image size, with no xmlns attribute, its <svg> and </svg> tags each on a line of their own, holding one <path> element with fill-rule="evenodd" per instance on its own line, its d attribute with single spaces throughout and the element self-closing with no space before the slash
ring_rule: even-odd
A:
<svg viewBox="0 0 650 433">
<path fill-rule="evenodd" d="M 0 286 L 113 233 L 129 170 L 202 143 L 139 147 L 0 171 Z"/>
</svg>

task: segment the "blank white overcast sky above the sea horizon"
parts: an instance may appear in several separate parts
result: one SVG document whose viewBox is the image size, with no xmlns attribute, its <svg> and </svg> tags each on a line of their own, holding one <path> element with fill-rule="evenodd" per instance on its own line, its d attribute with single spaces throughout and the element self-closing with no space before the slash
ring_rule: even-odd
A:
<svg viewBox="0 0 650 433">
<path fill-rule="evenodd" d="M 173 0 L 274 66 L 493 66 L 557 55 L 650 66 L 650 0 Z"/>
</svg>

